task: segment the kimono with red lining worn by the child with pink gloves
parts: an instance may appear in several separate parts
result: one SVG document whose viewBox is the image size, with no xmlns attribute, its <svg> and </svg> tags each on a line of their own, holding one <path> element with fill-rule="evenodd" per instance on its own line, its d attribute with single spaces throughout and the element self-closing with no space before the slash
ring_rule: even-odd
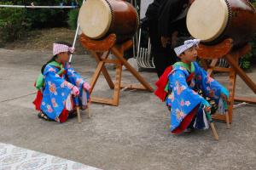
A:
<svg viewBox="0 0 256 170">
<path fill-rule="evenodd" d="M 77 86 L 80 91 L 77 97 L 79 105 L 87 105 L 90 94 L 83 89 L 85 81 L 70 65 L 63 66 L 55 61 L 51 62 L 46 65 L 41 78 L 43 79 L 39 82 L 44 82 L 44 86 L 39 89 L 40 85 L 36 85 L 43 94 L 43 99 L 40 99 L 40 110 L 50 119 L 56 122 L 66 122 L 68 111 L 72 111 L 74 106 L 74 98 L 71 94 L 73 86 Z"/>
</svg>

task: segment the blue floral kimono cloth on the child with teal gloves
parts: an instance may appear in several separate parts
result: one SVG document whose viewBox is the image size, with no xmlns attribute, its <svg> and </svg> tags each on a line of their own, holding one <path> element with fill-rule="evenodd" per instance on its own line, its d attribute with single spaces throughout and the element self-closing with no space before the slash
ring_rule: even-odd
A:
<svg viewBox="0 0 256 170">
<path fill-rule="evenodd" d="M 207 75 L 196 62 L 195 77 L 191 80 L 190 84 L 186 82 L 189 77 L 189 71 L 183 66 L 174 65 L 171 74 L 169 75 L 169 92 L 171 92 L 167 99 L 166 105 L 171 106 L 171 126 L 173 131 L 179 127 L 183 119 L 189 115 L 197 105 L 206 105 L 209 103 L 203 99 L 200 94 L 197 94 L 193 89 L 201 89 L 204 96 L 214 99 L 218 104 L 221 89 L 223 88 L 217 81 Z M 201 109 L 199 109 L 201 114 Z M 201 117 L 201 115 L 199 115 Z M 201 120 L 198 120 L 201 122 Z"/>
</svg>

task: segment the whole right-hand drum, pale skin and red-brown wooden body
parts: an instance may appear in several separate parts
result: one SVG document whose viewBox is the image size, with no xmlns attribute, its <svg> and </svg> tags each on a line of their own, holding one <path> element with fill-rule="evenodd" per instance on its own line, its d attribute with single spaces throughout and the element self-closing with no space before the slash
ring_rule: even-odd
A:
<svg viewBox="0 0 256 170">
<path fill-rule="evenodd" d="M 234 47 L 240 47 L 256 32 L 256 11 L 247 0 L 195 0 L 187 27 L 192 37 L 206 44 L 232 38 Z"/>
</svg>

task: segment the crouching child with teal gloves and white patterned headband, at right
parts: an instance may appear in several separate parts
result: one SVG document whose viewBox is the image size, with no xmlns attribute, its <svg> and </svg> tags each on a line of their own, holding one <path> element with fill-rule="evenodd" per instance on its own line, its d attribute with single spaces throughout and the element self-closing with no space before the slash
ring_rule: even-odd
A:
<svg viewBox="0 0 256 170">
<path fill-rule="evenodd" d="M 171 111 L 172 133 L 183 133 L 191 129 L 207 129 L 206 113 L 217 110 L 224 114 L 229 92 L 195 61 L 200 40 L 179 38 L 174 48 L 181 60 L 168 67 L 160 80 L 155 94 L 166 101 Z M 225 108 L 225 109 L 224 109 Z"/>
</svg>

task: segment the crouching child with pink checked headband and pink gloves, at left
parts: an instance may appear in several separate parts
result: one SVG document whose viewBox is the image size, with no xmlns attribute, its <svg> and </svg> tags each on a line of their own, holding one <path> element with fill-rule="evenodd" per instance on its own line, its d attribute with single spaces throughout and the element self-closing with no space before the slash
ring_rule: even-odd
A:
<svg viewBox="0 0 256 170">
<path fill-rule="evenodd" d="M 38 95 L 33 102 L 40 118 L 66 122 L 75 116 L 75 101 L 81 108 L 87 107 L 90 85 L 68 63 L 73 51 L 66 42 L 54 43 L 54 56 L 41 69 L 35 83 Z"/>
</svg>

